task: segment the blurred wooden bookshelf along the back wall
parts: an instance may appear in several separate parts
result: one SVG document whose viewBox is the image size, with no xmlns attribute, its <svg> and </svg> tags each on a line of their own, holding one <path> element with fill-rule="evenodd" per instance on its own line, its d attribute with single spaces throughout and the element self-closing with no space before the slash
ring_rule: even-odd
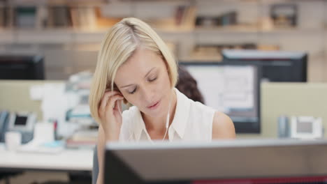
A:
<svg viewBox="0 0 327 184">
<path fill-rule="evenodd" d="M 290 3 L 297 7 L 296 26 L 275 26 L 271 7 Z M 27 14 L 27 20 L 31 19 L 30 25 L 17 24 L 17 7 L 22 8 L 18 9 L 19 15 Z M 0 45 L 62 45 L 63 49 L 67 45 L 75 45 L 69 46 L 71 49 L 98 45 L 89 47 L 90 52 L 96 52 L 110 26 L 132 16 L 150 23 L 163 40 L 173 45 L 180 61 L 217 59 L 216 55 L 201 58 L 201 54 L 194 54 L 201 45 L 255 44 L 266 49 L 305 50 L 312 68 L 309 75 L 319 73 L 312 75 L 311 81 L 323 82 L 327 81 L 324 67 L 317 72 L 313 68 L 319 67 L 310 65 L 327 67 L 326 8 L 324 0 L 0 1 Z"/>
</svg>

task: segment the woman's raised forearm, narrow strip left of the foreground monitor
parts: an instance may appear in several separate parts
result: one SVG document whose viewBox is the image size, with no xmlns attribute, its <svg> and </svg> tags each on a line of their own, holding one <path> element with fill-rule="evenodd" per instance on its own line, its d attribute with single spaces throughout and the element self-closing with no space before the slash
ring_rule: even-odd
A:
<svg viewBox="0 0 327 184">
<path fill-rule="evenodd" d="M 103 184 L 103 163 L 104 163 L 104 148 L 106 146 L 106 138 L 101 124 L 99 125 L 99 134 L 98 134 L 98 163 L 99 163 L 99 174 L 96 184 Z"/>
</svg>

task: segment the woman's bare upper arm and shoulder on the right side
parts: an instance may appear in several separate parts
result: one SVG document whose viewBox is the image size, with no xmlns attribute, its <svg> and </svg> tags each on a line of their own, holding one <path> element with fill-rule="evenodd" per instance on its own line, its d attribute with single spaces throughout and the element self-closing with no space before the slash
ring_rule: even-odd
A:
<svg viewBox="0 0 327 184">
<path fill-rule="evenodd" d="M 235 137 L 235 127 L 231 118 L 222 112 L 215 112 L 212 139 L 235 139 Z"/>
</svg>

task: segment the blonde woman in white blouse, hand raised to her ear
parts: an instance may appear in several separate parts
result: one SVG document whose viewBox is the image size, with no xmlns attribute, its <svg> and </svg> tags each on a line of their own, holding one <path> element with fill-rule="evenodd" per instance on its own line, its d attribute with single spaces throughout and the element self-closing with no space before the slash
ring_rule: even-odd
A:
<svg viewBox="0 0 327 184">
<path fill-rule="evenodd" d="M 89 105 L 99 122 L 99 177 L 106 141 L 232 139 L 231 118 L 175 89 L 177 63 L 145 22 L 125 18 L 106 33 Z M 122 101 L 132 107 L 122 112 Z"/>
</svg>

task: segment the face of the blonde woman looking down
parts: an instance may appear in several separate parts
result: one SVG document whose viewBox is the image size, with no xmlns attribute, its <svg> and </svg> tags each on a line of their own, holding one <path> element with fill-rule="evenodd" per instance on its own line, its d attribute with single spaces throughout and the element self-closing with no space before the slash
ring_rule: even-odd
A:
<svg viewBox="0 0 327 184">
<path fill-rule="evenodd" d="M 117 70 L 115 84 L 127 101 L 152 117 L 165 116 L 171 98 L 165 61 L 149 49 L 136 49 Z"/>
</svg>

